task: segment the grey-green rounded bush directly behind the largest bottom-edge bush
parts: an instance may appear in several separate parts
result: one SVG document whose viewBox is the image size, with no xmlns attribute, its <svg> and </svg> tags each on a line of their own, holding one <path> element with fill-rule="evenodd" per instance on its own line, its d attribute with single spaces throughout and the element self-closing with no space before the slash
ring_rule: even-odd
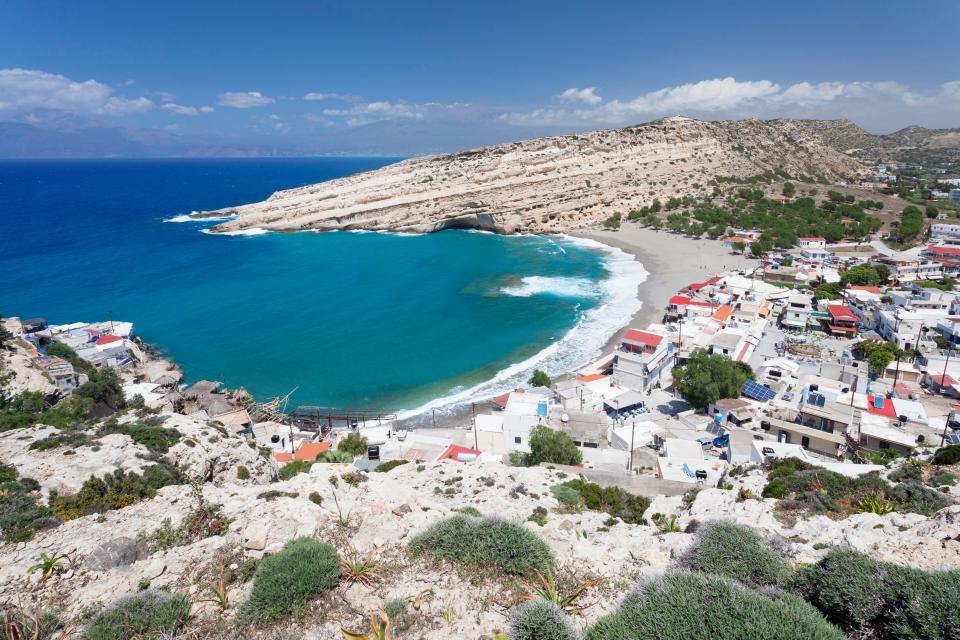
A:
<svg viewBox="0 0 960 640">
<path fill-rule="evenodd" d="M 732 522 L 700 527 L 680 566 L 733 578 L 750 587 L 778 585 L 791 574 L 789 563 L 753 529 Z"/>
</svg>

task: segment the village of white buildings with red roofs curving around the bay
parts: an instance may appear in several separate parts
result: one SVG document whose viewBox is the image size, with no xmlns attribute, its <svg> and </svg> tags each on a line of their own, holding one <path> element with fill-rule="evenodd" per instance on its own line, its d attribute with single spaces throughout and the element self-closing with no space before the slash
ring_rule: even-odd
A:
<svg viewBox="0 0 960 640">
<path fill-rule="evenodd" d="M 120 372 L 129 405 L 210 421 L 281 467 L 330 460 L 326 452 L 345 437 L 367 447 L 355 461 L 365 470 L 396 460 L 509 463 L 546 426 L 572 439 L 588 477 L 676 493 L 767 456 L 861 475 L 917 448 L 960 442 L 960 292 L 949 286 L 960 273 L 960 225 L 933 224 L 931 234 L 905 252 L 800 238 L 753 270 L 689 283 L 665 301 L 660 322 L 628 329 L 612 352 L 572 375 L 417 428 L 371 409 L 288 408 L 286 398 L 258 402 L 216 381 L 183 385 L 130 322 L 5 322 L 51 397 L 86 381 L 57 355 L 64 345 L 96 370 Z M 753 237 L 738 230 L 723 242 L 735 251 Z M 877 270 L 886 282 L 854 284 L 849 275 Z M 744 363 L 752 377 L 737 397 L 694 407 L 673 372 L 705 355 Z"/>
</svg>

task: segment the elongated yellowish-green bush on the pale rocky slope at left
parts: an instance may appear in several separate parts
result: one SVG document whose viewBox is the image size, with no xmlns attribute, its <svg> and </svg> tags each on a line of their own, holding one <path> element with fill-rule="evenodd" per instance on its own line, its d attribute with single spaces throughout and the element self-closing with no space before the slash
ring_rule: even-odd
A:
<svg viewBox="0 0 960 640">
<path fill-rule="evenodd" d="M 117 469 L 103 478 L 90 476 L 80 491 L 73 495 L 50 492 L 50 509 L 64 520 L 73 520 L 91 513 L 122 509 L 140 500 L 157 495 L 157 489 L 183 484 L 184 477 L 175 467 L 155 464 L 142 475 Z"/>
</svg>

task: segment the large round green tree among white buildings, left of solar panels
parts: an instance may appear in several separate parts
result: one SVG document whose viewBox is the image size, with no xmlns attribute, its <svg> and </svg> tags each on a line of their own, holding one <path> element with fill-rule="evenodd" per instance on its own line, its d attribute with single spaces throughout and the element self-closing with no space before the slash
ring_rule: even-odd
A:
<svg viewBox="0 0 960 640">
<path fill-rule="evenodd" d="M 743 383 L 753 379 L 747 363 L 702 350 L 695 351 L 687 364 L 673 368 L 674 384 L 695 409 L 706 409 L 721 398 L 739 398 Z"/>
</svg>

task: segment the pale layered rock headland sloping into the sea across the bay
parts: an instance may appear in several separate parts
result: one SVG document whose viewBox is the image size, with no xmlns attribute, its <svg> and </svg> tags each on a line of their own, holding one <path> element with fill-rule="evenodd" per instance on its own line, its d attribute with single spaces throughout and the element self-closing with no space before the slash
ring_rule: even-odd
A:
<svg viewBox="0 0 960 640">
<path fill-rule="evenodd" d="M 215 232 L 564 232 L 656 198 L 709 195 L 718 177 L 779 172 L 833 182 L 863 173 L 863 165 L 821 137 L 820 124 L 676 116 L 413 158 L 196 217 L 236 216 Z"/>
</svg>

